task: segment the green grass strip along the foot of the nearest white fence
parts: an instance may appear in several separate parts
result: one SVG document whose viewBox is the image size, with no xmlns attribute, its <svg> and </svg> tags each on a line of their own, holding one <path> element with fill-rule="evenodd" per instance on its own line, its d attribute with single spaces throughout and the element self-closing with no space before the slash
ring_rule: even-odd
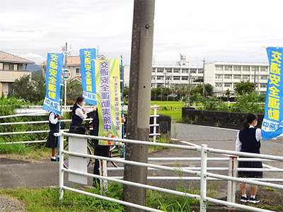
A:
<svg viewBox="0 0 283 212">
<path fill-rule="evenodd" d="M 187 189 L 180 187 L 177 189 L 180 192 L 187 192 L 190 194 L 200 194 L 199 190 Z M 93 194 L 100 194 L 98 187 L 88 187 L 84 189 L 85 192 Z M 123 188 L 122 184 L 112 182 L 108 186 L 106 196 L 114 199 L 122 200 Z M 213 195 L 215 192 L 209 192 Z M 96 199 L 91 196 L 77 194 L 74 192 L 64 191 L 64 199 L 59 201 L 58 188 L 43 188 L 43 189 L 4 189 L 0 192 L 2 195 L 16 197 L 16 199 L 25 203 L 25 210 L 30 212 L 53 212 L 53 211 L 105 211 L 116 212 L 125 211 L 124 206 L 115 204 L 110 201 Z M 158 208 L 163 211 L 190 211 L 191 206 L 199 204 L 196 199 L 190 199 L 185 196 L 176 196 L 163 192 L 147 191 L 146 206 L 151 208 Z"/>
</svg>

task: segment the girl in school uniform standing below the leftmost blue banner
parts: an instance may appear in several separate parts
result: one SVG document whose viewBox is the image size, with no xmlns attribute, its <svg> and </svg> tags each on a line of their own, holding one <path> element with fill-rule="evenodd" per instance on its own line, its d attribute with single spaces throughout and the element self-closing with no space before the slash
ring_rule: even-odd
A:
<svg viewBox="0 0 283 212">
<path fill-rule="evenodd" d="M 58 145 L 58 137 L 54 136 L 54 133 L 58 133 L 59 132 L 59 119 L 61 119 L 61 115 L 59 114 L 55 114 L 54 112 L 50 112 L 49 115 L 49 128 L 50 128 L 50 132 L 49 132 L 49 136 L 47 139 L 47 143 L 46 143 L 46 147 L 47 148 L 52 148 L 52 157 L 51 157 L 51 161 L 56 161 L 56 148 Z M 58 158 L 59 161 L 59 158 Z"/>
</svg>

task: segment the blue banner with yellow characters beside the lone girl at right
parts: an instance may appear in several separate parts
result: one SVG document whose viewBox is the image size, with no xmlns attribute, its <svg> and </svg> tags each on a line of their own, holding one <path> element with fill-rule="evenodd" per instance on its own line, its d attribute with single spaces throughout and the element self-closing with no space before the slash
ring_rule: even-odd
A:
<svg viewBox="0 0 283 212">
<path fill-rule="evenodd" d="M 270 76 L 265 98 L 265 117 L 262 122 L 262 139 L 275 138 L 283 133 L 283 81 L 281 81 L 283 48 L 268 47 Z M 282 75 L 283 80 L 283 75 Z M 282 88 L 282 89 L 281 89 Z"/>
</svg>

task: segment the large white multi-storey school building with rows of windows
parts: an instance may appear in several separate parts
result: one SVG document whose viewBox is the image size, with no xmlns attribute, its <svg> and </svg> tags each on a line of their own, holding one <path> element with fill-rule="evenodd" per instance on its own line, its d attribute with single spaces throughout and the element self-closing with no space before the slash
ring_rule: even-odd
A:
<svg viewBox="0 0 283 212">
<path fill-rule="evenodd" d="M 174 84 L 202 84 L 209 83 L 214 87 L 217 96 L 224 96 L 226 90 L 230 90 L 231 96 L 235 96 L 234 87 L 241 81 L 256 83 L 255 90 L 265 94 L 269 74 L 269 64 L 260 63 L 234 63 L 215 62 L 206 63 L 203 66 L 191 66 L 185 56 L 181 54 L 180 61 L 174 66 L 152 66 L 151 88 L 170 87 Z M 129 66 L 124 66 L 125 85 L 129 86 Z"/>
</svg>

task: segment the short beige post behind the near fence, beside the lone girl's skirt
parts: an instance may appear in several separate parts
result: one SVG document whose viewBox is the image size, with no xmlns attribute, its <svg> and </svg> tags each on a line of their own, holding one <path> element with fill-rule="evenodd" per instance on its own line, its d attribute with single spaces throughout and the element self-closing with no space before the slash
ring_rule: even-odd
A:
<svg viewBox="0 0 283 212">
<path fill-rule="evenodd" d="M 237 171 L 237 157 L 230 156 L 229 157 L 229 170 L 228 176 L 229 177 L 236 177 Z M 236 182 L 229 180 L 227 186 L 227 201 L 235 203 L 236 201 Z"/>
</svg>

